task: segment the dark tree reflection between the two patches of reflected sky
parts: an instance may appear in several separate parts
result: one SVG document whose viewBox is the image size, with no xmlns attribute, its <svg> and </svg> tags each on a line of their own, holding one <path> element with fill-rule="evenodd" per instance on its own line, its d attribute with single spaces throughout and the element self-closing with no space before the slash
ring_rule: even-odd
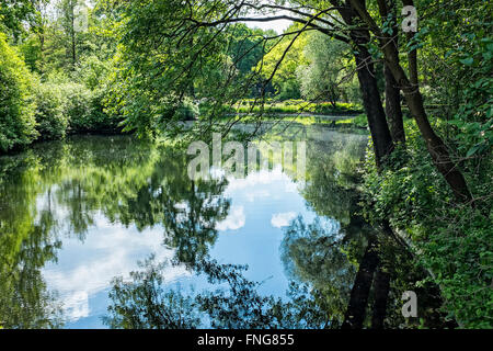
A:
<svg viewBox="0 0 493 351">
<path fill-rule="evenodd" d="M 216 241 L 216 225 L 227 217 L 230 202 L 221 196 L 226 180 L 192 181 L 185 165 L 183 154 L 168 150 L 128 200 L 125 220 L 140 228 L 163 225 L 164 245 L 175 249 L 175 259 L 193 263 Z"/>
</svg>

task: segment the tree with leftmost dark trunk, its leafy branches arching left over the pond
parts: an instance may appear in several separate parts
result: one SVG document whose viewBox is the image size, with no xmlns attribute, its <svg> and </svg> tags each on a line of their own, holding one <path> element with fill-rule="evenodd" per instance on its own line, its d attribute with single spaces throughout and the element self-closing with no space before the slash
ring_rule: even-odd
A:
<svg viewBox="0 0 493 351">
<path fill-rule="evenodd" d="M 351 30 L 347 33 L 346 25 L 341 27 L 339 22 L 324 19 L 325 14 L 334 10 L 332 8 L 314 11 L 311 5 L 306 5 L 306 11 L 303 11 L 276 4 L 274 1 L 265 4 L 250 1 L 238 4 L 220 1 L 216 4 L 195 2 L 187 4 L 187 7 L 183 7 L 179 1 L 165 3 L 151 1 L 147 5 L 135 2 L 118 3 L 122 13 L 118 21 L 122 24 L 119 25 L 123 44 L 121 57 L 128 65 L 125 68 L 125 75 L 128 76 L 122 78 L 125 81 L 126 90 L 138 90 L 139 92 L 138 97 L 127 93 L 127 97 L 133 97 L 131 99 L 119 98 L 122 94 L 115 99 L 115 104 L 128 106 L 122 109 L 124 112 L 134 112 L 129 113 L 127 120 L 129 127 L 146 129 L 153 124 L 149 116 L 162 115 L 162 120 L 170 123 L 163 123 L 163 125 L 167 125 L 169 129 L 174 129 L 173 113 L 170 114 L 169 109 L 162 111 L 162 107 L 157 106 L 157 101 L 168 101 L 168 105 L 171 106 L 177 105 L 175 101 L 181 101 L 187 93 L 190 81 L 203 72 L 205 64 L 223 67 L 223 79 L 209 80 L 208 84 L 208 91 L 216 99 L 217 105 L 236 103 L 238 98 L 244 95 L 244 91 L 249 90 L 252 80 L 241 82 L 234 80 L 234 75 L 225 65 L 225 56 L 218 48 L 220 43 L 227 39 L 231 24 L 288 19 L 299 23 L 298 29 L 293 29 L 282 35 L 264 37 L 264 42 L 279 41 L 279 46 L 284 46 L 284 48 L 279 49 L 280 57 L 277 63 L 272 65 L 270 75 L 264 79 L 261 97 L 257 100 L 261 102 L 265 100 L 265 88 L 273 81 L 289 52 L 296 47 L 296 42 L 301 39 L 306 32 L 319 31 L 345 43 L 354 42 L 356 43 L 354 52 L 357 53 L 357 72 L 374 138 L 377 162 L 381 163 L 385 156 L 392 150 L 392 139 L 380 101 L 371 56 L 365 47 L 369 41 L 368 31 L 359 29 L 358 31 Z M 274 10 L 288 11 L 289 15 L 272 14 Z M 244 15 L 251 11 L 264 13 L 265 16 Z M 357 19 L 354 11 L 344 12 L 344 14 L 348 15 L 349 22 Z M 159 22 L 149 21 L 150 18 L 158 18 Z M 126 34 L 130 32 L 131 36 Z M 194 45 L 190 45 L 192 42 Z M 262 61 L 257 67 L 263 67 Z M 131 78 L 134 75 L 139 77 L 137 84 Z M 142 94 L 142 89 L 147 93 Z M 156 109 L 150 109 L 154 105 Z M 217 109 L 210 110 L 210 116 L 215 113 L 218 113 Z M 205 118 L 205 121 L 210 125 L 213 117 Z"/>
</svg>

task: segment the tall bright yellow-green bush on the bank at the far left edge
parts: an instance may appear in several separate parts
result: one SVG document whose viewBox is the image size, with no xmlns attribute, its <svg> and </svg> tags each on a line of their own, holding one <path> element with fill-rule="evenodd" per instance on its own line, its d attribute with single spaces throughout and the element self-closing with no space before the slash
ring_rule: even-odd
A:
<svg viewBox="0 0 493 351">
<path fill-rule="evenodd" d="M 36 137 L 31 73 L 0 33 L 0 151 Z"/>
</svg>

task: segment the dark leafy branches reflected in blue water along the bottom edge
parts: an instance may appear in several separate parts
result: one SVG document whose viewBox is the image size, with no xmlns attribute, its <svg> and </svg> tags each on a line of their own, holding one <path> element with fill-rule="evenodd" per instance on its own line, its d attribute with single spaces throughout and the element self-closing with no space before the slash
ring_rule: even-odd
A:
<svg viewBox="0 0 493 351">
<path fill-rule="evenodd" d="M 165 286 L 169 262 L 153 258 L 140 263 L 131 280 L 114 280 L 112 304 L 103 321 L 111 328 L 326 328 L 331 326 L 319 296 L 306 285 L 291 283 L 289 302 L 259 294 L 262 283 L 243 276 L 246 267 L 219 264 L 204 258 L 193 264 L 197 274 L 218 287 L 185 293 Z"/>
</svg>

